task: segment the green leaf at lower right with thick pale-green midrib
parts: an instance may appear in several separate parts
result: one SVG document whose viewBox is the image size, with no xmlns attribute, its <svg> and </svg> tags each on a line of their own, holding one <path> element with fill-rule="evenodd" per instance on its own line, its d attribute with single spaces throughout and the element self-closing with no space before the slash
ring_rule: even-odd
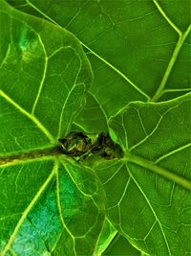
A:
<svg viewBox="0 0 191 256">
<path fill-rule="evenodd" d="M 109 221 L 149 255 L 191 251 L 190 108 L 191 94 L 127 105 L 110 122 L 125 155 L 96 167 Z"/>
</svg>

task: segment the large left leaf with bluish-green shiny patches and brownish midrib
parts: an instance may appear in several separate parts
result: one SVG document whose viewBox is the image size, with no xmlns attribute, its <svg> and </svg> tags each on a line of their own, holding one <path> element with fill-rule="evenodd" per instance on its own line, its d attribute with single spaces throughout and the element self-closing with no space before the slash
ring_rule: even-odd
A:
<svg viewBox="0 0 191 256">
<path fill-rule="evenodd" d="M 92 255 L 104 221 L 94 170 L 53 151 L 92 81 L 77 39 L 0 1 L 0 255 Z"/>
</svg>

